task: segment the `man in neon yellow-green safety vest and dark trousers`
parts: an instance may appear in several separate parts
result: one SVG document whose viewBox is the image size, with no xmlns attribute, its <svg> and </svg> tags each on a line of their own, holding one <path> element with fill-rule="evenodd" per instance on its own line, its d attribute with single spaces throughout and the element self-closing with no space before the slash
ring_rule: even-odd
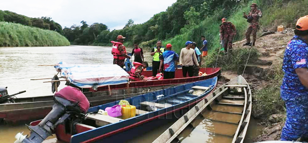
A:
<svg viewBox="0 0 308 143">
<path fill-rule="evenodd" d="M 160 59 L 159 57 L 163 54 L 165 48 L 162 46 L 162 41 L 157 41 L 156 47 L 154 47 L 151 51 L 151 56 L 153 56 L 152 61 L 152 76 L 157 75 L 157 71 L 159 70 L 160 66 Z"/>
</svg>

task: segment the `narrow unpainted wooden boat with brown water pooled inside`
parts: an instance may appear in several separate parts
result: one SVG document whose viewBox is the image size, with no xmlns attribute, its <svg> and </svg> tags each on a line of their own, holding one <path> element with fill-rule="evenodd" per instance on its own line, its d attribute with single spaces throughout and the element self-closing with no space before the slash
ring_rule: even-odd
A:
<svg viewBox="0 0 308 143">
<path fill-rule="evenodd" d="M 153 142 L 243 142 L 251 111 L 251 89 L 238 76 L 204 98 Z M 192 129 L 186 129 L 188 126 Z"/>
</svg>

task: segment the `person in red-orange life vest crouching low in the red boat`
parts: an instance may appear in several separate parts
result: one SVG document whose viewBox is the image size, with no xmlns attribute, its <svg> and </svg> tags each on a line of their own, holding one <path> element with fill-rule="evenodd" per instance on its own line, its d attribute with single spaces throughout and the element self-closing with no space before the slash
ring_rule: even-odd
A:
<svg viewBox="0 0 308 143">
<path fill-rule="evenodd" d="M 144 81 L 146 82 L 148 79 L 141 75 L 143 68 L 148 67 L 147 62 L 143 62 L 142 64 L 139 62 L 132 62 L 133 67 L 129 72 L 129 81 Z"/>
</svg>

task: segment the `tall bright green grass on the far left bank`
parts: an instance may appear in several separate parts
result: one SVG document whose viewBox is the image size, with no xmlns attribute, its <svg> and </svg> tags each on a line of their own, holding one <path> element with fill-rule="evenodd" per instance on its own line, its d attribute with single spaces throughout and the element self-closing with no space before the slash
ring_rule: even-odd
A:
<svg viewBox="0 0 308 143">
<path fill-rule="evenodd" d="M 24 26 L 21 24 L 0 22 L 0 46 L 68 46 L 69 41 L 63 35 L 51 31 Z"/>
</svg>

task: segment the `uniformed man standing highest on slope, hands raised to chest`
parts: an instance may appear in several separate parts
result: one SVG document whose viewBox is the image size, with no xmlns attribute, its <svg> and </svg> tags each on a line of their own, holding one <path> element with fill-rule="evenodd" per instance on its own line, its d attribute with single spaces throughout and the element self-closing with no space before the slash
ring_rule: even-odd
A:
<svg viewBox="0 0 308 143">
<path fill-rule="evenodd" d="M 259 19 L 262 17 L 261 10 L 257 9 L 257 4 L 253 3 L 251 5 L 252 10 L 249 11 L 248 15 L 244 12 L 244 18 L 249 22 L 249 27 L 246 31 L 246 43 L 243 46 L 255 46 L 255 42 L 257 40 L 257 30 L 259 28 Z M 250 35 L 253 33 L 253 42 L 251 43 Z"/>
</svg>

